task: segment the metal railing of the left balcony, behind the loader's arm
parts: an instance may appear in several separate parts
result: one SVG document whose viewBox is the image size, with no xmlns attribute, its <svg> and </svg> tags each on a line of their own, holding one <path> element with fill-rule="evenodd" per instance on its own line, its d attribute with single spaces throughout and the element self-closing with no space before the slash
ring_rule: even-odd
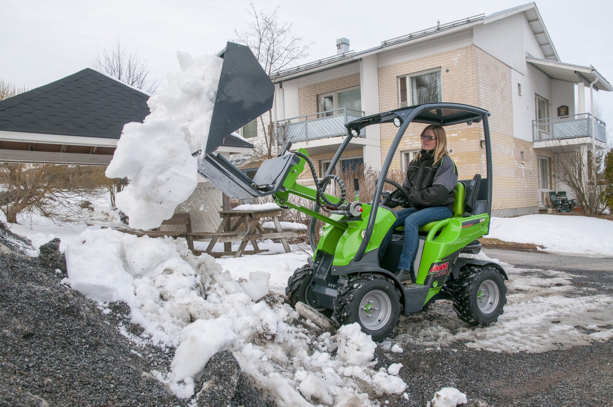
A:
<svg viewBox="0 0 613 407">
<path fill-rule="evenodd" d="M 345 123 L 360 117 L 364 117 L 362 110 L 341 107 L 327 112 L 311 113 L 310 115 L 277 121 L 276 132 L 280 143 L 325 139 L 326 137 L 346 135 Z M 360 137 L 365 137 L 364 129 L 360 132 Z"/>
</svg>

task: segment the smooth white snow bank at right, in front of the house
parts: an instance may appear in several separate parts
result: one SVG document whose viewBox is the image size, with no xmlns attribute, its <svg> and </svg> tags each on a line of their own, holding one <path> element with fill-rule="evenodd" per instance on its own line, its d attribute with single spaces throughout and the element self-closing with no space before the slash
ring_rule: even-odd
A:
<svg viewBox="0 0 613 407">
<path fill-rule="evenodd" d="M 492 218 L 487 238 L 532 243 L 546 251 L 613 256 L 613 222 L 588 216 L 525 215 Z"/>
</svg>

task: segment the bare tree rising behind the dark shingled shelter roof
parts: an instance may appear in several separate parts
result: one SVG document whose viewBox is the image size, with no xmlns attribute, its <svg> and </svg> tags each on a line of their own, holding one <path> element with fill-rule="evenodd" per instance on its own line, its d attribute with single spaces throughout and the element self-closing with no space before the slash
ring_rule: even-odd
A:
<svg viewBox="0 0 613 407">
<path fill-rule="evenodd" d="M 138 53 L 126 51 L 126 45 L 121 43 L 118 37 L 110 48 L 98 51 L 96 57 L 89 64 L 99 70 L 117 78 L 126 85 L 143 89 L 148 93 L 158 90 L 160 79 L 150 78 L 150 70 L 147 69 L 147 59 L 140 59 Z"/>
</svg>

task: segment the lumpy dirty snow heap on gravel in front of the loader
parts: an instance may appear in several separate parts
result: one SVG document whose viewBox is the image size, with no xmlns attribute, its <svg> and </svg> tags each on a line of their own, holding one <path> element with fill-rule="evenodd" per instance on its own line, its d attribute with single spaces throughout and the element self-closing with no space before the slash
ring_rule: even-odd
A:
<svg viewBox="0 0 613 407">
<path fill-rule="evenodd" d="M 90 228 L 69 243 L 66 258 L 64 283 L 101 306 L 129 305 L 144 331 L 141 338 L 124 335 L 176 348 L 170 371 L 151 373 L 179 397 L 194 394 L 200 372 L 222 350 L 232 351 L 280 406 L 371 406 L 362 382 L 389 394 L 406 389 L 402 379 L 371 368 L 376 345 L 357 324 L 319 337 L 305 327 L 309 321 L 294 327 L 300 317 L 289 305 L 276 297 L 256 302 L 267 294 L 268 273 L 234 280 L 213 257 L 195 257 L 182 239 Z"/>
</svg>

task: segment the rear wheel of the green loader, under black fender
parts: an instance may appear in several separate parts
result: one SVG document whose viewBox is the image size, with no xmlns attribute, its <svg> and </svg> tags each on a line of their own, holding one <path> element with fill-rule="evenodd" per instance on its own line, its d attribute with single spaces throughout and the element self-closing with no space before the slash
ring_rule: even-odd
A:
<svg viewBox="0 0 613 407">
<path fill-rule="evenodd" d="M 504 277 L 492 267 L 465 267 L 458 280 L 449 286 L 455 313 L 468 324 L 489 326 L 504 312 Z"/>
</svg>

